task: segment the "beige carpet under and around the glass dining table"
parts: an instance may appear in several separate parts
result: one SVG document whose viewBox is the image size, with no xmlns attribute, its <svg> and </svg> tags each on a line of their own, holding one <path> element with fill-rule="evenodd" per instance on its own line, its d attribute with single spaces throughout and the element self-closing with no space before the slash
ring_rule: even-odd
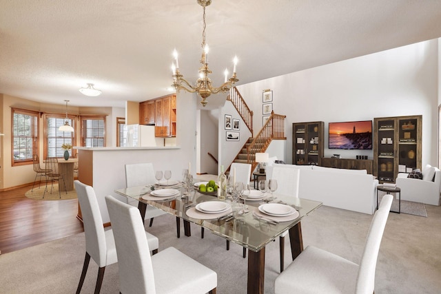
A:
<svg viewBox="0 0 441 294">
<path fill-rule="evenodd" d="M 441 207 L 427 205 L 427 218 L 390 213 L 378 255 L 375 293 L 440 293 Z M 302 221 L 305 246 L 315 245 L 359 262 L 372 216 L 332 207 L 320 207 Z M 181 223 L 182 225 L 182 223 Z M 242 247 L 192 224 L 192 237 L 176 238 L 172 216 L 155 218 L 147 227 L 159 238 L 159 251 L 175 246 L 218 274 L 218 294 L 245 294 L 247 259 Z M 181 227 L 181 231 L 183 228 Z M 290 262 L 285 238 L 285 264 Z M 85 253 L 84 233 L 0 255 L 0 293 L 74 293 Z M 278 240 L 267 245 L 265 294 L 274 293 L 278 269 Z M 90 261 L 81 293 L 93 293 L 98 266 Z M 119 293 L 118 264 L 107 266 L 101 293 Z"/>
</svg>

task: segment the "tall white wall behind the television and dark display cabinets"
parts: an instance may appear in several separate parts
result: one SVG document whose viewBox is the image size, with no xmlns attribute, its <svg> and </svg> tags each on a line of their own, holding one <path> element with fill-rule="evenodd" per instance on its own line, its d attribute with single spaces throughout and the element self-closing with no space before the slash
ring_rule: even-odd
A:
<svg viewBox="0 0 441 294">
<path fill-rule="evenodd" d="M 238 90 L 254 111 L 256 130 L 262 126 L 262 91 L 273 90 L 274 112 L 287 116 L 287 163 L 292 162 L 292 123 L 324 121 L 329 157 L 336 153 L 327 149 L 329 122 L 422 114 L 422 165 L 437 165 L 439 52 L 435 39 L 240 85 Z M 338 154 L 372 158 L 373 151 Z"/>
</svg>

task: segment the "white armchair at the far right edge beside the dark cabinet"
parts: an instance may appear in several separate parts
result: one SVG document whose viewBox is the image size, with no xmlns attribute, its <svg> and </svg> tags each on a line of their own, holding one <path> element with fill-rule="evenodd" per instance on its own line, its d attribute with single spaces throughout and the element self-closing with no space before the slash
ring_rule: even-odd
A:
<svg viewBox="0 0 441 294">
<path fill-rule="evenodd" d="M 396 185 L 401 189 L 401 199 L 425 204 L 440 205 L 441 171 L 426 165 L 421 171 L 422 180 L 407 178 L 409 174 L 400 173 Z"/>
</svg>

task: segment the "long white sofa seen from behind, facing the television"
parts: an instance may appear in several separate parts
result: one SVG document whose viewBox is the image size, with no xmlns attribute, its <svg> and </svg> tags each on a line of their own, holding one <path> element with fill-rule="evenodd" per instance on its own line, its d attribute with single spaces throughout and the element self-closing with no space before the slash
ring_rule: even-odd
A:
<svg viewBox="0 0 441 294">
<path fill-rule="evenodd" d="M 267 179 L 274 167 L 300 169 L 299 198 L 317 200 L 323 205 L 373 214 L 376 209 L 378 180 L 365 169 L 334 169 L 316 165 L 278 165 L 267 167 Z M 277 193 L 277 191 L 276 191 Z"/>
</svg>

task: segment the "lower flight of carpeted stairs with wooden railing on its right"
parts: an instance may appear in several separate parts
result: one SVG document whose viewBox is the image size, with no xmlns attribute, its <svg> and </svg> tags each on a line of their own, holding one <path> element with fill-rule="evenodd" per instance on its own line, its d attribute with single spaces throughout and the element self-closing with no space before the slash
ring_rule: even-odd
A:
<svg viewBox="0 0 441 294">
<path fill-rule="evenodd" d="M 247 147 L 247 163 L 252 165 L 252 171 L 257 166 L 256 153 L 265 152 L 268 148 L 271 140 L 286 140 L 285 136 L 285 118 L 287 116 L 283 116 L 281 114 L 274 114 L 274 111 L 271 112 L 271 116 L 269 116 L 265 125 L 263 125 L 260 132 L 256 135 L 252 143 L 250 143 Z"/>
</svg>

